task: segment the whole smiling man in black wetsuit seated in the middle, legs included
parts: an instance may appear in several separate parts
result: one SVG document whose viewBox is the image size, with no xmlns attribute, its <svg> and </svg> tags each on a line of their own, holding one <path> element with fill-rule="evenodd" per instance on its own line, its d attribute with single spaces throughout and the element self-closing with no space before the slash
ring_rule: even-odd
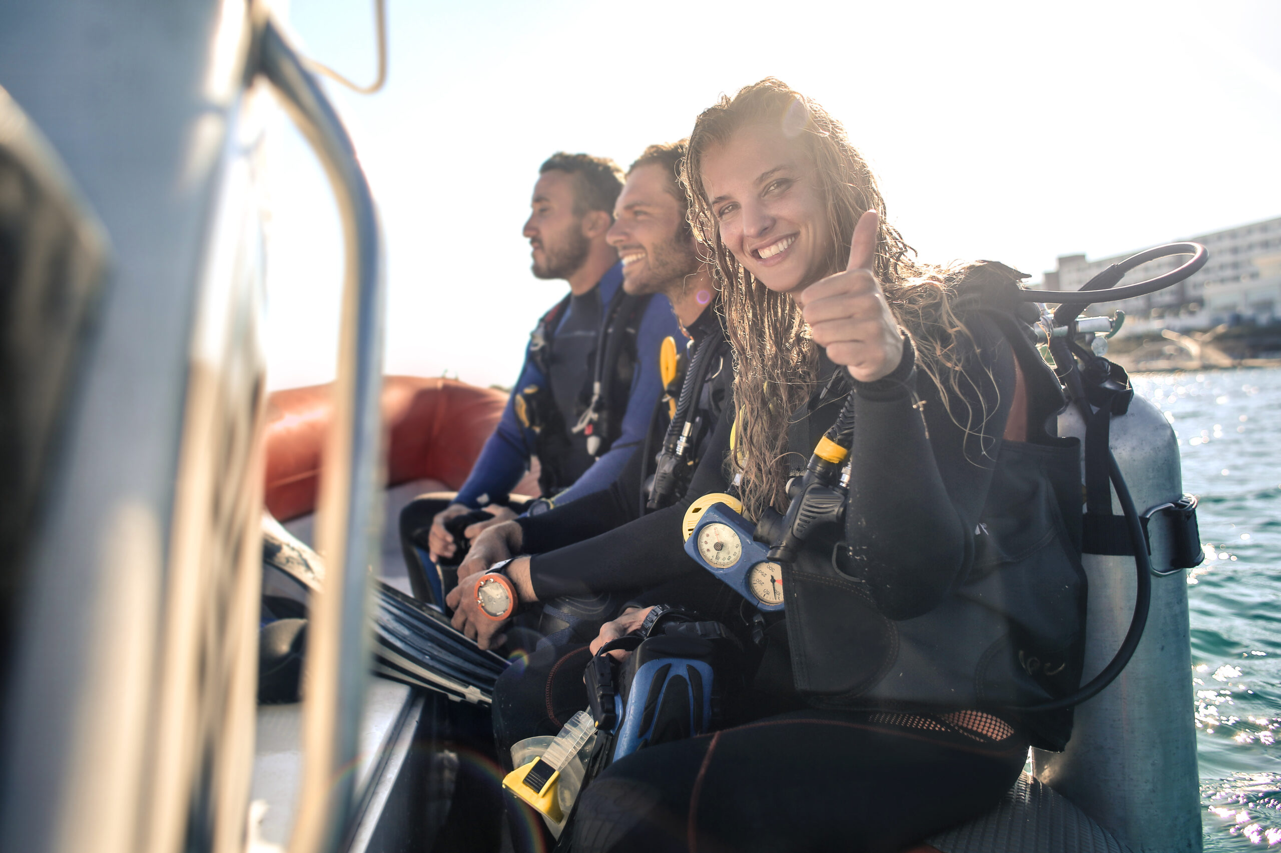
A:
<svg viewBox="0 0 1281 853">
<path fill-rule="evenodd" d="M 665 295 L 687 330 L 689 357 L 680 397 L 688 397 L 688 407 L 678 407 L 673 425 L 651 435 L 651 452 L 634 456 L 603 492 L 482 533 L 459 567 L 460 584 L 448 597 L 456 608 L 455 626 L 482 648 L 497 644 L 497 634 L 510 631 L 530 615 L 526 611 L 514 620 L 510 613 L 494 619 L 493 612 L 482 612 L 478 599 L 492 598 L 492 593 L 480 593 L 480 584 L 496 578 L 484 573 L 491 567 L 501 573 L 503 580 L 488 583 L 510 584 L 507 589 L 523 605 L 539 602 L 532 610 L 541 608 L 538 630 L 544 639 L 498 678 L 493 692 L 497 760 L 509 771 L 512 744 L 532 735 L 556 734 L 585 706 L 583 667 L 591 658 L 588 643 L 602 621 L 612 619 L 637 589 L 649 585 L 647 573 L 660 567 L 651 565 L 653 555 L 660 555 L 662 569 L 670 566 L 667 543 L 680 537 L 688 501 L 729 488 L 724 482 L 712 487 L 689 483 L 712 437 L 728 429 L 731 420 L 733 371 L 717 315 L 716 282 L 699 257 L 685 218 L 685 195 L 676 179 L 684 155 L 684 141 L 646 149 L 628 170 L 608 241 L 623 259 L 624 288 L 629 293 Z M 675 435 L 684 435 L 679 453 L 671 452 Z M 656 475 L 655 485 L 642 496 L 646 474 L 655 470 L 653 451 L 658 451 L 658 471 L 667 470 L 665 460 L 674 462 L 674 482 L 664 488 L 662 478 Z M 523 556 L 501 562 L 512 555 Z M 649 594 L 665 601 L 679 584 L 683 601 L 715 606 L 721 589 L 729 588 L 688 557 L 680 558 L 688 562 L 688 573 Z M 642 596 L 635 603 L 651 602 Z M 542 820 L 510 794 L 506 800 L 514 818 L 515 849 L 551 849 L 555 840 L 543 831 Z"/>
</svg>

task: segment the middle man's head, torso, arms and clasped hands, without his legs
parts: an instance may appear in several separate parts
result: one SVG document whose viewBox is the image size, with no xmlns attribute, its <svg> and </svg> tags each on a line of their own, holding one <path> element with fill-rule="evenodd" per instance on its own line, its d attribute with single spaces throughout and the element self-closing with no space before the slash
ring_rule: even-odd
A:
<svg viewBox="0 0 1281 853">
<path fill-rule="evenodd" d="M 684 151 L 684 142 L 646 149 L 628 170 L 608 233 L 610 243 L 623 259 L 624 288 L 629 293 L 665 295 L 690 338 L 690 366 L 685 378 L 689 406 L 688 411 L 676 415 L 675 429 L 667 432 L 673 441 L 673 433 L 685 435 L 679 457 L 674 465 L 664 465 L 671 442 L 660 433 L 649 441 L 653 450 L 662 452 L 655 484 L 646 498 L 640 498 L 640 484 L 652 459 L 638 456 L 598 494 L 560 503 L 550 512 L 524 516 L 483 533 L 459 567 L 460 584 L 447 599 L 456 610 L 455 626 L 474 637 L 482 648 L 487 648 L 509 622 L 496 621 L 493 613 L 482 613 L 477 597 L 470 594 L 474 583 L 464 578 L 474 580 L 477 573 L 489 570 L 494 562 L 524 555 L 507 562 L 501 571 L 521 602 L 546 602 L 541 633 L 573 626 L 571 633 L 585 643 L 596 637 L 596 626 L 612 615 L 629 592 L 646 585 L 647 549 L 665 533 L 679 534 L 684 510 L 664 507 L 684 497 L 702 447 L 728 407 L 733 379 L 729 343 L 715 307 L 708 310 L 715 302 L 715 282 L 708 265 L 698 256 L 685 219 L 684 191 L 676 182 Z M 685 396 L 684 389 L 681 396 Z M 666 483 L 664 471 L 669 474 Z M 640 506 L 642 500 L 649 508 L 662 511 L 639 519 L 646 508 Z M 690 567 L 698 569 L 693 562 Z M 574 642 L 569 635 L 556 639 Z M 537 665 L 532 663 L 532 669 Z M 582 698 L 580 689 L 570 688 L 570 693 L 575 699 Z"/>
</svg>

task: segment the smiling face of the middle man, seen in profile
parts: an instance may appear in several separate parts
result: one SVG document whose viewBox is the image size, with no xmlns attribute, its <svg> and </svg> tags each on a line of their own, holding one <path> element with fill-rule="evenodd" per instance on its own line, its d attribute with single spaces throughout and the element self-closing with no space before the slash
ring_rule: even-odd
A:
<svg viewBox="0 0 1281 853">
<path fill-rule="evenodd" d="M 698 272 L 694 241 L 684 233 L 673 179 L 652 163 L 633 169 L 614 206 L 606 240 L 623 259 L 623 289 L 632 295 L 670 292 Z"/>
</svg>

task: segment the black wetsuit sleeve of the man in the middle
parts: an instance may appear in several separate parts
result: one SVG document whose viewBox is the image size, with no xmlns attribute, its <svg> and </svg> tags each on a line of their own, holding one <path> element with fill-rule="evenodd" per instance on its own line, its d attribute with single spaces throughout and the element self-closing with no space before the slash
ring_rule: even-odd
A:
<svg viewBox="0 0 1281 853">
<path fill-rule="evenodd" d="M 733 423 L 728 412 L 716 423 L 689 489 L 676 503 L 585 542 L 534 555 L 529 574 L 538 599 L 642 589 L 705 571 L 685 553 L 680 523 L 694 498 L 729 487 L 725 459 Z"/>
</svg>

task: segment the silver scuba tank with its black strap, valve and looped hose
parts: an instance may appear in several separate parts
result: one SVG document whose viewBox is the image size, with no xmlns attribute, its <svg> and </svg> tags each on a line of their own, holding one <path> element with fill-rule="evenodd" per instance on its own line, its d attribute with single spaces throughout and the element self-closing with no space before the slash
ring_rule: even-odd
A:
<svg viewBox="0 0 1281 853">
<path fill-rule="evenodd" d="M 1129 269 L 1173 254 L 1194 256 L 1159 279 L 1109 291 L 1108 301 L 1138 295 L 1140 288 L 1152 292 L 1168 287 L 1191 275 L 1207 259 L 1205 250 L 1196 243 L 1175 243 L 1135 255 L 1095 280 L 1104 279 L 1102 287 L 1109 287 L 1108 279 L 1114 283 Z M 1094 283 L 1082 289 L 1099 289 L 1091 287 Z M 1090 350 L 1068 345 L 1075 338 L 1079 307 L 1058 309 L 1054 325 L 1066 327 L 1067 334 L 1061 342 L 1049 343 L 1076 403 L 1059 415 L 1058 432 L 1082 439 L 1082 469 L 1090 492 L 1090 430 L 1098 429 L 1098 421 L 1090 418 L 1090 412 L 1097 415 L 1095 389 L 1114 374 L 1122 379 L 1116 384 L 1126 389 L 1129 380 L 1123 371 Z M 1132 397 L 1123 411 L 1113 409 L 1108 421 L 1104 450 L 1111 451 L 1130 502 L 1145 524 L 1150 566 L 1146 576 L 1135 580 L 1132 548 L 1108 542 L 1106 530 L 1090 535 L 1089 520 L 1097 505 L 1102 501 L 1114 506 L 1120 500 L 1114 488 L 1091 494 L 1082 555 L 1089 578 L 1085 676 L 1098 672 L 1112 649 L 1123 643 L 1127 622 L 1132 628 L 1130 613 L 1144 597 L 1144 587 L 1149 588 L 1149 615 L 1129 663 L 1116 680 L 1077 706 L 1066 749 L 1032 752 L 1034 772 L 1135 850 L 1199 850 L 1200 795 L 1191 715 L 1187 584 L 1182 571 L 1204 558 L 1195 526 L 1195 498 L 1182 494 L 1179 446 L 1172 426 L 1155 406 Z"/>
</svg>

